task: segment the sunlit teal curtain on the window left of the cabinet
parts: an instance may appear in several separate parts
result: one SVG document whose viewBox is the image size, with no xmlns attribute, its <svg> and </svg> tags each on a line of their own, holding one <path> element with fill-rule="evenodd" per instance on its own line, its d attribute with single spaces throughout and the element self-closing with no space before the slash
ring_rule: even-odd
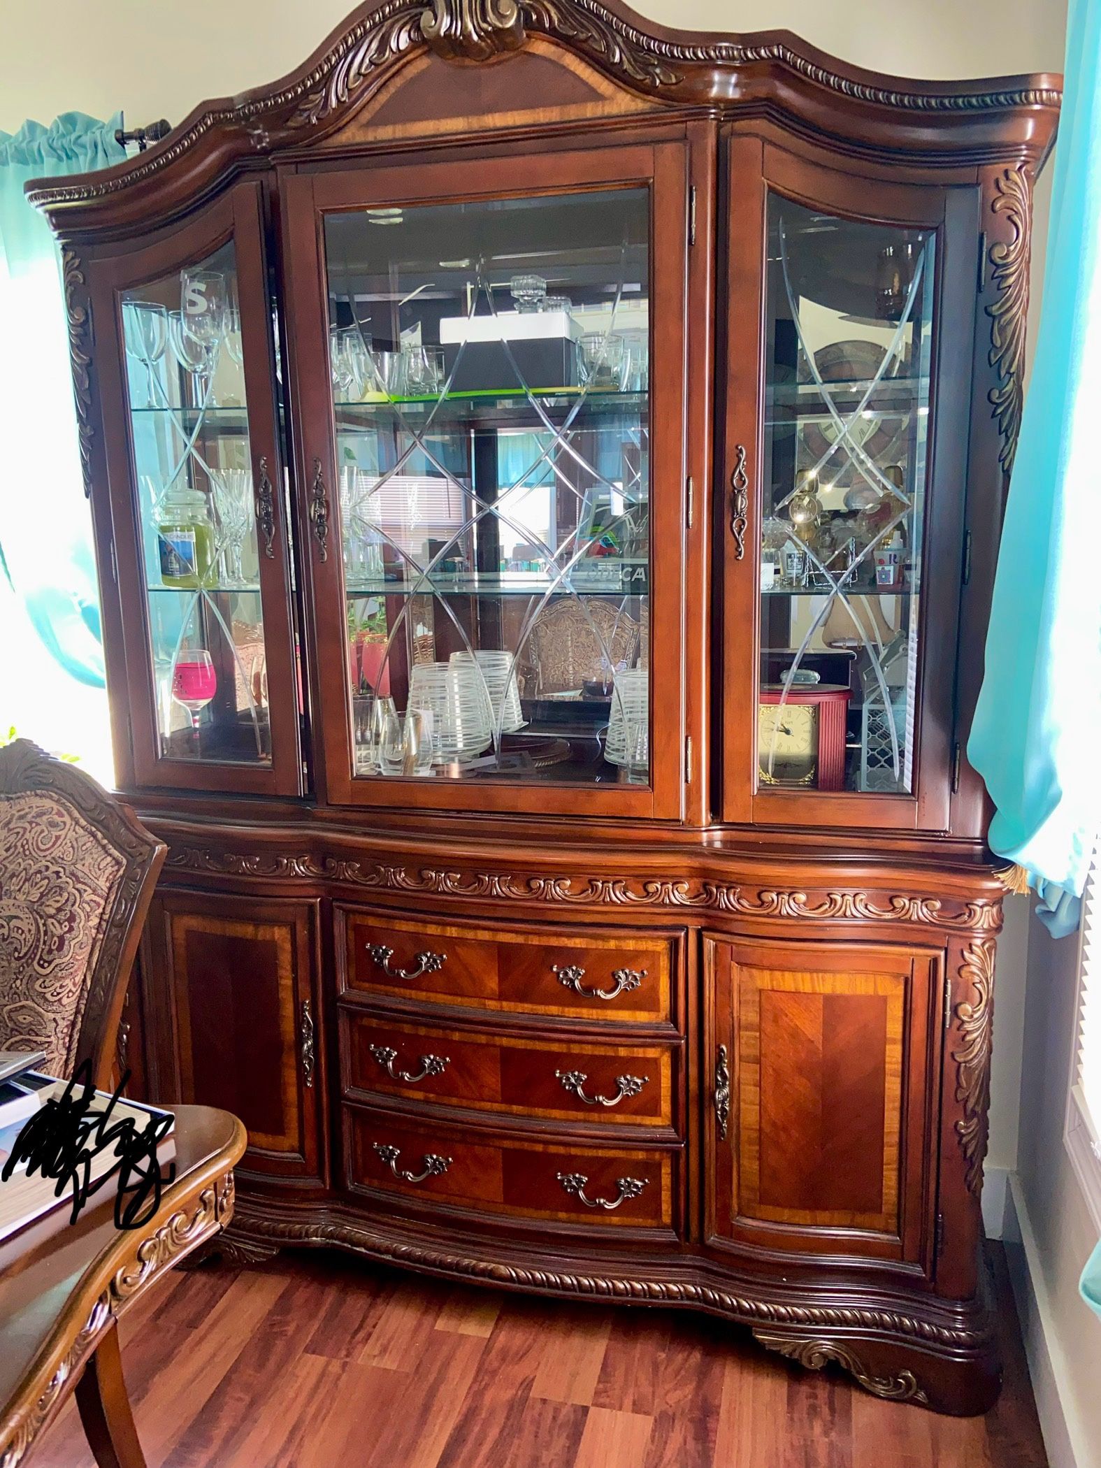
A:
<svg viewBox="0 0 1101 1468">
<path fill-rule="evenodd" d="M 69 112 L 0 132 L 0 577 L 70 678 L 103 687 L 60 261 L 23 185 L 117 163 L 119 117 Z"/>
</svg>

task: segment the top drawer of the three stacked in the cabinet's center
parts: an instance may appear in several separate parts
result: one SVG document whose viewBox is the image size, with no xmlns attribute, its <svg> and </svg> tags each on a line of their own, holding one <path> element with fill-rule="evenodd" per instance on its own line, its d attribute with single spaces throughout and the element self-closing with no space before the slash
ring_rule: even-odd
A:
<svg viewBox="0 0 1101 1468">
<path fill-rule="evenodd" d="M 672 1017 L 669 938 L 517 932 L 338 912 L 346 989 L 615 1022 Z"/>
</svg>

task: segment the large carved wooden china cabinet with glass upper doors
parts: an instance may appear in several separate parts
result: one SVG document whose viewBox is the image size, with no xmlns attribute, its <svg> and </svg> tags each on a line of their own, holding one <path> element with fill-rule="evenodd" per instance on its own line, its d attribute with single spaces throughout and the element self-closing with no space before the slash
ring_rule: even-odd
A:
<svg viewBox="0 0 1101 1468">
<path fill-rule="evenodd" d="M 131 1047 L 245 1120 L 239 1255 L 991 1403 L 963 749 L 1058 97 L 385 0 L 32 186 L 170 846 Z"/>
</svg>

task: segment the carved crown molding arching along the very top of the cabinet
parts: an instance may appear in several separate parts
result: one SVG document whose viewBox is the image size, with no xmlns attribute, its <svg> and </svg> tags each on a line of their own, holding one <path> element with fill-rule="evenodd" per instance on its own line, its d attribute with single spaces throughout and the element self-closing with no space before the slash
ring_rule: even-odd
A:
<svg viewBox="0 0 1101 1468">
<path fill-rule="evenodd" d="M 759 85 L 769 73 L 788 84 L 825 91 L 846 101 L 888 109 L 909 117 L 963 122 L 1014 109 L 1055 109 L 1055 87 L 1013 85 L 1000 79 L 986 88 L 953 84 L 884 85 L 865 72 L 847 72 L 831 57 L 802 48 L 782 32 L 694 43 L 686 32 L 650 34 L 634 12 L 621 13 L 600 0 L 383 0 L 357 12 L 346 29 L 317 60 L 283 85 L 258 88 L 239 98 L 206 106 L 139 159 L 104 176 L 43 185 L 31 201 L 48 207 L 84 204 L 117 194 L 172 167 L 208 134 L 233 139 L 236 154 L 267 153 L 299 142 L 302 132 L 357 106 L 396 62 L 430 47 L 440 56 L 484 62 L 515 50 L 533 34 L 561 41 L 622 85 L 662 101 L 730 112 L 740 106 L 747 70 Z M 787 88 L 790 91 L 790 85 Z"/>
</svg>

